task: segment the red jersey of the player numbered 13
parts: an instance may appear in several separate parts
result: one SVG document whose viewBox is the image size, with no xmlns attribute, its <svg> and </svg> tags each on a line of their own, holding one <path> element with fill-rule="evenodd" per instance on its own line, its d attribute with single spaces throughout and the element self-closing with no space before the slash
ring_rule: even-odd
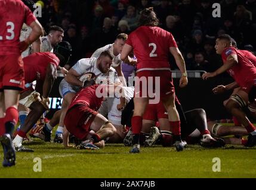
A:
<svg viewBox="0 0 256 190">
<path fill-rule="evenodd" d="M 20 53 L 21 27 L 30 25 L 35 17 L 20 0 L 0 0 L 0 18 L 0 55 Z"/>
</svg>

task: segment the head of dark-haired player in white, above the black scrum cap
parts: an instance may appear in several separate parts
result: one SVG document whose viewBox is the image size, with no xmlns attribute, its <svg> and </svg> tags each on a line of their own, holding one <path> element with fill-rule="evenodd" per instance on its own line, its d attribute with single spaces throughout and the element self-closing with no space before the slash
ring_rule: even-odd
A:
<svg viewBox="0 0 256 190">
<path fill-rule="evenodd" d="M 50 39 L 51 45 L 55 47 L 62 41 L 62 38 L 64 37 L 64 30 L 59 26 L 51 26 L 49 29 L 48 37 Z"/>
</svg>

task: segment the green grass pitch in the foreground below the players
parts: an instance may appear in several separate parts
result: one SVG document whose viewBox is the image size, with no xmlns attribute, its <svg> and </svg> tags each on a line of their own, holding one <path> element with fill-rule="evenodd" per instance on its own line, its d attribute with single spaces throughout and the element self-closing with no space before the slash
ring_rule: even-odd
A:
<svg viewBox="0 0 256 190">
<path fill-rule="evenodd" d="M 209 149 L 188 145 L 182 152 L 174 147 L 130 147 L 106 144 L 101 150 L 65 149 L 61 144 L 33 139 L 23 143 L 34 153 L 17 153 L 14 167 L 0 166 L 0 178 L 255 178 L 256 147 Z M 2 148 L 0 159 L 2 162 Z M 42 160 L 42 172 L 34 172 L 33 159 Z M 213 172 L 214 157 L 220 158 L 220 172 Z"/>
</svg>

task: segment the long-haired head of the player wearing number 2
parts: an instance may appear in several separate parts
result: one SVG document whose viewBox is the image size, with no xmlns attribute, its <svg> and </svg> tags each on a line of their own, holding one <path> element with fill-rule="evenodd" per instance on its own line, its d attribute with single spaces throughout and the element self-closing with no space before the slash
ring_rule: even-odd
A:
<svg viewBox="0 0 256 190">
<path fill-rule="evenodd" d="M 141 11 L 138 23 L 140 23 L 140 26 L 158 26 L 159 20 L 153 7 L 145 8 Z"/>
</svg>

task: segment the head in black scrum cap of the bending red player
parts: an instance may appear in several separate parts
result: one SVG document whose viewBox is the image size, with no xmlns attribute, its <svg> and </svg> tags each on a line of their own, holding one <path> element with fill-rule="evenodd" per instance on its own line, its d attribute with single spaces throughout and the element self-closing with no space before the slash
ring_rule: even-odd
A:
<svg viewBox="0 0 256 190">
<path fill-rule="evenodd" d="M 72 46 L 69 42 L 62 41 L 54 48 L 54 54 L 60 59 L 60 66 L 64 66 L 69 61 L 72 53 Z"/>
</svg>

